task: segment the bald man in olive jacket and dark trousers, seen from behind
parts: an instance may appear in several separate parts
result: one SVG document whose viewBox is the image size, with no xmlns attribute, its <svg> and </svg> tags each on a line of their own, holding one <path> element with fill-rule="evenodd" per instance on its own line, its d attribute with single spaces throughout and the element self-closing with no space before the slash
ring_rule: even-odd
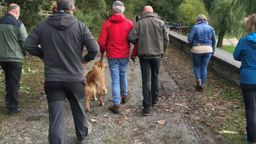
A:
<svg viewBox="0 0 256 144">
<path fill-rule="evenodd" d="M 151 6 L 145 6 L 140 20 L 134 24 L 128 39 L 137 45 L 140 58 L 143 93 L 143 114 L 148 116 L 151 106 L 156 106 L 158 98 L 158 73 L 161 57 L 169 45 L 167 28 L 160 17 L 153 13 Z M 149 85 L 151 72 L 151 89 Z"/>
</svg>

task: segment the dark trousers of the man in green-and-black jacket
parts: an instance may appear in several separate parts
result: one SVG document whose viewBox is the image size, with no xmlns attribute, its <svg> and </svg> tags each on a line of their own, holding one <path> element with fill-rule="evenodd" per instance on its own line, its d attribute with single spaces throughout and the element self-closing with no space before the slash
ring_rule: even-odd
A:
<svg viewBox="0 0 256 144">
<path fill-rule="evenodd" d="M 0 62 L 5 72 L 5 101 L 10 112 L 16 112 L 19 106 L 20 78 L 22 73 L 21 62 Z"/>
</svg>

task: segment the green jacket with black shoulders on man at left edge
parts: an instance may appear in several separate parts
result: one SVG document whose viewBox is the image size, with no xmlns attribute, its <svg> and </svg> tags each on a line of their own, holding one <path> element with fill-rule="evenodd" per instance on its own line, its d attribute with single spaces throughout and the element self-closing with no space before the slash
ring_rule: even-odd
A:
<svg viewBox="0 0 256 144">
<path fill-rule="evenodd" d="M 12 14 L 0 18 L 0 61 L 22 62 L 26 56 L 22 45 L 27 36 L 24 24 Z"/>
</svg>

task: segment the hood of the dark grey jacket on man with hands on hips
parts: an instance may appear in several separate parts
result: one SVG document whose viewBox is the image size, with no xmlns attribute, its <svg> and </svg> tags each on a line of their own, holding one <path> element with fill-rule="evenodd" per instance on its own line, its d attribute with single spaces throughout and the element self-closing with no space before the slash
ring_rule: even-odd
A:
<svg viewBox="0 0 256 144">
<path fill-rule="evenodd" d="M 68 12 L 57 12 L 46 19 L 48 24 L 59 30 L 67 29 L 77 21 L 78 19 Z"/>
</svg>

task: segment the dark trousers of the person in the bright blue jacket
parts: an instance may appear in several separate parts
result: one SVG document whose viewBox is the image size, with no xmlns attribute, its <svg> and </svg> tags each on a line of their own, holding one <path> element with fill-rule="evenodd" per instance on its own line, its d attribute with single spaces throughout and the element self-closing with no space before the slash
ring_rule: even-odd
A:
<svg viewBox="0 0 256 144">
<path fill-rule="evenodd" d="M 245 105 L 248 140 L 256 142 L 256 85 L 240 83 Z"/>
</svg>

